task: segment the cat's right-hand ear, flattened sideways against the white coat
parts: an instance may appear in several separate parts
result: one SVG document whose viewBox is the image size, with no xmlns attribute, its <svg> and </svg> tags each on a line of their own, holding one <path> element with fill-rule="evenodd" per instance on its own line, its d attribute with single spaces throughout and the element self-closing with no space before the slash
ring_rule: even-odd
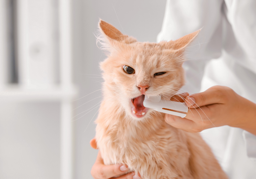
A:
<svg viewBox="0 0 256 179">
<path fill-rule="evenodd" d="M 186 48 L 188 44 L 190 44 L 197 37 L 200 31 L 201 29 L 173 41 L 171 47 L 172 50 L 181 50 Z"/>
</svg>

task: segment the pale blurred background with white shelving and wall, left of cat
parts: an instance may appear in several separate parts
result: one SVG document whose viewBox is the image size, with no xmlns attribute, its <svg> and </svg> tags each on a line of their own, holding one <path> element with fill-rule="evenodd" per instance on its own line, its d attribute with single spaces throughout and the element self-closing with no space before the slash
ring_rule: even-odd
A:
<svg viewBox="0 0 256 179">
<path fill-rule="evenodd" d="M 166 0 L 0 0 L 0 178 L 91 179 L 99 18 L 156 42 Z"/>
</svg>

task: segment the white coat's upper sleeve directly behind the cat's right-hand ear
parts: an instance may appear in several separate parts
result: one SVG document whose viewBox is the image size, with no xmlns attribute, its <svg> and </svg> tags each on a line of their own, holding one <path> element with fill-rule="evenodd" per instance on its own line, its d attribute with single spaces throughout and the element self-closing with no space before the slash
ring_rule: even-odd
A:
<svg viewBox="0 0 256 179">
<path fill-rule="evenodd" d="M 223 0 L 167 0 L 158 42 L 176 40 L 203 28 L 183 64 L 187 83 L 182 89 L 189 93 L 199 92 L 206 63 L 221 55 L 222 5 Z"/>
</svg>

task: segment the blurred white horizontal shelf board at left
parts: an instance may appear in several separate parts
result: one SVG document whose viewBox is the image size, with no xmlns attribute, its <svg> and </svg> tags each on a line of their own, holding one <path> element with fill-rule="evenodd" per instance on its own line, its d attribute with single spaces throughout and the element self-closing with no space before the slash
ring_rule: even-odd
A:
<svg viewBox="0 0 256 179">
<path fill-rule="evenodd" d="M 45 88 L 24 88 L 20 86 L 6 86 L 0 89 L 0 102 L 2 101 L 61 101 L 74 100 L 78 90 L 75 86 L 63 88 L 50 86 Z"/>
</svg>

